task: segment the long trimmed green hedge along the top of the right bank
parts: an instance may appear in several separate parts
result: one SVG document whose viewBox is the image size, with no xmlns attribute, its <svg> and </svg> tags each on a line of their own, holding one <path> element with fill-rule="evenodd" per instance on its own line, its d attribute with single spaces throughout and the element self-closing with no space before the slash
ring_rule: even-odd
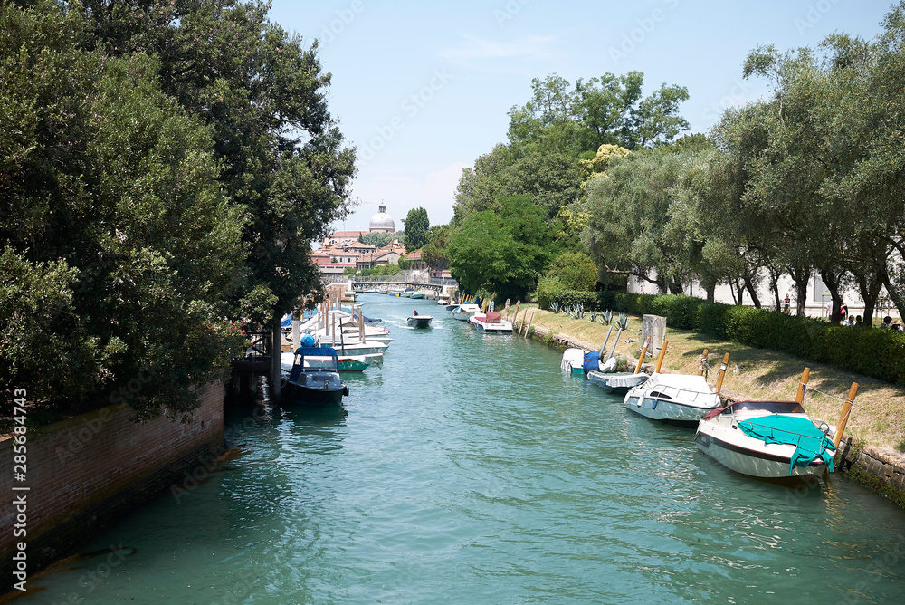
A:
<svg viewBox="0 0 905 605">
<path fill-rule="evenodd" d="M 586 310 L 661 315 L 672 328 L 697 331 L 739 344 L 782 351 L 803 360 L 849 370 L 864 376 L 905 385 L 905 333 L 865 330 L 674 294 L 576 292 L 550 288 L 538 303 L 582 304 Z"/>
</svg>

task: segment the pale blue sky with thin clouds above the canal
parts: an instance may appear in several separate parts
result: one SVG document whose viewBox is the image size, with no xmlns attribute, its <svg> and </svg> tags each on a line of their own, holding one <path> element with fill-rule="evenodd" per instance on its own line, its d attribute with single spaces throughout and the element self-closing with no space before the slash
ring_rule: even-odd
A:
<svg viewBox="0 0 905 605">
<path fill-rule="evenodd" d="M 706 133 L 723 110 L 757 101 L 767 82 L 741 66 L 762 44 L 816 47 L 840 32 L 872 39 L 891 3 L 877 0 L 272 0 L 272 22 L 319 43 L 332 74 L 330 112 L 357 148 L 357 203 L 334 228 L 367 230 L 381 204 L 396 229 L 424 207 L 452 218 L 462 168 L 507 141 L 508 112 L 531 80 L 606 72 L 688 88 L 681 115 Z"/>
</svg>

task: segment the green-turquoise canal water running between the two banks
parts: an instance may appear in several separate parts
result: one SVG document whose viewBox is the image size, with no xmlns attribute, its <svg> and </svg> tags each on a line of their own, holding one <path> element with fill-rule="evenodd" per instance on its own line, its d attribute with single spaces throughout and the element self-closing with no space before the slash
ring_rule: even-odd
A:
<svg viewBox="0 0 905 605">
<path fill-rule="evenodd" d="M 16 602 L 905 601 L 905 513 L 862 486 L 733 475 L 558 351 L 360 301 L 395 340 L 348 377 L 347 414 L 233 415 L 240 456 Z M 405 326 L 413 308 L 433 329 Z"/>
</svg>

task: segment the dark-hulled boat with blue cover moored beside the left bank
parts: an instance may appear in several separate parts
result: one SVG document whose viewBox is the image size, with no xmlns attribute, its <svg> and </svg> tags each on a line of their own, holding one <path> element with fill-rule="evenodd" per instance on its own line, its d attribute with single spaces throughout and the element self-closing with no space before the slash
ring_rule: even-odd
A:
<svg viewBox="0 0 905 605">
<path fill-rule="evenodd" d="M 337 351 L 329 347 L 299 347 L 289 378 L 282 385 L 281 402 L 310 408 L 342 404 L 348 384 L 339 378 Z"/>
</svg>

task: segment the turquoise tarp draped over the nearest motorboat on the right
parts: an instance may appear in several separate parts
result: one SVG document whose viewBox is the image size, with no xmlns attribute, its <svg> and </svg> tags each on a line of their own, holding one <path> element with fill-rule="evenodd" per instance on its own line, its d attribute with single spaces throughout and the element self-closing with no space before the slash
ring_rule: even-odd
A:
<svg viewBox="0 0 905 605">
<path fill-rule="evenodd" d="M 771 414 L 760 418 L 742 420 L 738 428 L 764 443 L 780 443 L 795 446 L 795 454 L 789 462 L 789 475 L 797 466 L 808 466 L 815 457 L 824 459 L 826 467 L 834 472 L 833 455 L 829 452 L 836 447 L 824 432 L 814 426 L 808 418 Z"/>
</svg>

